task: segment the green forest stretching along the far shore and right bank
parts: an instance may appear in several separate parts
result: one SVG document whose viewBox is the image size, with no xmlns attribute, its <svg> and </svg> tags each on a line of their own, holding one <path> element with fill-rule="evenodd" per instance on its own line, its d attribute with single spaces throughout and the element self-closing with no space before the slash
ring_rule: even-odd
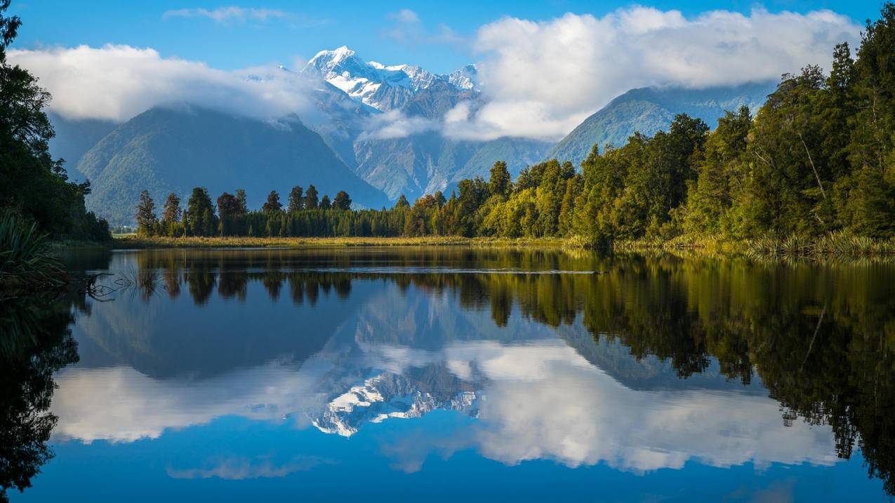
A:
<svg viewBox="0 0 895 503">
<path fill-rule="evenodd" d="M 143 235 L 500 236 L 575 238 L 586 244 L 678 236 L 729 240 L 841 233 L 895 235 L 895 4 L 868 21 L 852 54 L 842 43 L 831 71 L 782 76 L 753 112 L 729 111 L 717 127 L 678 115 L 667 132 L 635 133 L 621 147 L 594 146 L 581 166 L 552 159 L 516 180 L 498 161 L 488 179 L 458 183 L 390 209 L 351 209 L 339 192 L 318 200 L 296 186 L 286 208 L 270 192 L 258 211 L 245 194 L 202 188 L 187 208 L 169 194 L 160 218 L 149 193 Z"/>
</svg>

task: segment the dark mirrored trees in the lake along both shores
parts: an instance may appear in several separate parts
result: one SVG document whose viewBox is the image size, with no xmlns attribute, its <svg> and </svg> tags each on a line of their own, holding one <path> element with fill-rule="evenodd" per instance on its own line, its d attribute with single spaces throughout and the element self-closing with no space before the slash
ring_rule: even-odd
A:
<svg viewBox="0 0 895 503">
<path fill-rule="evenodd" d="M 403 292 L 455 295 L 464 309 L 490 310 L 499 327 L 513 311 L 550 327 L 578 320 L 593 338 L 670 362 L 681 379 L 715 360 L 728 379 L 761 379 L 780 402 L 781 421 L 829 424 L 837 454 L 848 458 L 860 448 L 868 474 L 895 494 L 895 268 L 888 264 L 461 249 L 157 251 L 140 252 L 136 263 L 134 287 L 145 302 L 183 294 L 197 305 L 215 294 L 246 302 L 249 284 L 257 283 L 274 301 L 312 306 L 330 294 L 348 299 L 354 281 L 389 281 Z M 586 274 L 593 270 L 610 273 Z M 29 312 L 4 305 L 4 330 L 24 316 L 17 310 Z M 27 487 L 50 456 L 52 373 L 77 359 L 68 308 L 30 312 L 42 317 L 30 325 L 41 335 L 13 337 L 18 342 L 4 347 L 9 363 L 0 371 L 9 411 L 4 488 Z"/>
</svg>

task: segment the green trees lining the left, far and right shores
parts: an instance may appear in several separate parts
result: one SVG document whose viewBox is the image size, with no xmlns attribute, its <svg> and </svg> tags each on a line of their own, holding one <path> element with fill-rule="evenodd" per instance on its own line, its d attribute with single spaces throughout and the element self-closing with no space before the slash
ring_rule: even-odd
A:
<svg viewBox="0 0 895 503">
<path fill-rule="evenodd" d="M 8 4 L 0 0 L 0 212 L 8 216 L 0 245 L 15 252 L 0 259 L 5 276 L 46 253 L 47 238 L 111 240 L 107 222 L 85 209 L 90 183 L 70 182 L 64 160 L 49 153 L 49 94 L 6 61 L 21 25 L 4 17 Z M 157 216 L 144 193 L 139 234 L 154 243 L 161 236 L 462 236 L 616 250 L 891 254 L 895 4 L 886 2 L 879 19 L 867 21 L 857 50 L 835 47 L 830 68 L 809 65 L 783 75 L 763 107 L 729 111 L 713 131 L 678 115 L 666 132 L 635 133 L 620 147 L 595 145 L 581 166 L 552 159 L 513 180 L 498 161 L 487 179 L 463 180 L 449 195 L 435 192 L 413 203 L 401 197 L 392 208 L 353 209 L 349 194 L 330 200 L 309 185 L 294 187 L 286 204 L 271 192 L 262 208 L 250 210 L 240 191 L 213 201 L 197 187 L 185 208 L 169 195 Z"/>
</svg>

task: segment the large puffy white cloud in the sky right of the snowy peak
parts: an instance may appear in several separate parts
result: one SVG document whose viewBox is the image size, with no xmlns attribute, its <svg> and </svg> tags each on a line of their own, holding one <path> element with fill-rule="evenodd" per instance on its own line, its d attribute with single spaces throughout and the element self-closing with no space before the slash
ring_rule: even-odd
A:
<svg viewBox="0 0 895 503">
<path fill-rule="evenodd" d="M 855 42 L 860 30 L 831 11 L 712 11 L 687 19 L 638 6 L 601 18 L 504 18 L 482 26 L 473 43 L 488 103 L 447 133 L 557 138 L 626 90 L 776 80 L 805 64 L 829 64 L 832 47 Z"/>
</svg>

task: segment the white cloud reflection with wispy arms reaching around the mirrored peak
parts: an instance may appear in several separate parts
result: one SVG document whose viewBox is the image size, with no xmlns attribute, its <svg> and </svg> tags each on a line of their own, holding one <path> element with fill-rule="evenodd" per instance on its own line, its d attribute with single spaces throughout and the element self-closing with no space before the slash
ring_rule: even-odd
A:
<svg viewBox="0 0 895 503">
<path fill-rule="evenodd" d="M 576 328 L 583 329 L 583 328 Z M 570 467 L 606 463 L 626 472 L 682 468 L 688 461 L 729 467 L 752 463 L 833 465 L 829 427 L 785 426 L 766 396 L 704 389 L 626 388 L 556 340 L 528 345 L 493 341 L 448 345 L 440 352 L 367 345 L 374 368 L 405 372 L 444 364 L 459 379 L 478 379 L 480 422 L 455 438 L 417 439 L 388 448 L 396 466 L 415 472 L 432 451 L 466 448 L 506 465 L 552 459 Z M 558 393 L 557 390 L 563 390 Z"/>
</svg>

